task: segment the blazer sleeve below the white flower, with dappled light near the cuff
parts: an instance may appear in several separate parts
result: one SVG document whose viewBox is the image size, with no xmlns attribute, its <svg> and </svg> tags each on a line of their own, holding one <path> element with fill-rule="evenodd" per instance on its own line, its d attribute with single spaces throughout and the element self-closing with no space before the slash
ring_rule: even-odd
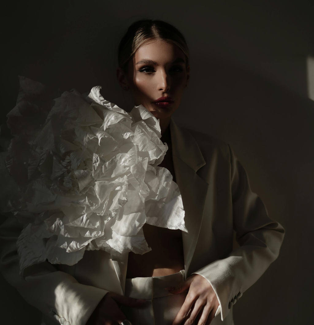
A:
<svg viewBox="0 0 314 325">
<path fill-rule="evenodd" d="M 22 279 L 16 248 L 21 231 L 22 225 L 15 217 L 7 218 L 0 226 L 0 270 L 6 281 L 30 305 L 48 317 L 56 320 L 65 318 L 63 323 L 68 321 L 70 325 L 85 325 L 108 291 L 80 284 L 68 273 L 57 271 L 47 261 L 26 268 Z"/>
</svg>

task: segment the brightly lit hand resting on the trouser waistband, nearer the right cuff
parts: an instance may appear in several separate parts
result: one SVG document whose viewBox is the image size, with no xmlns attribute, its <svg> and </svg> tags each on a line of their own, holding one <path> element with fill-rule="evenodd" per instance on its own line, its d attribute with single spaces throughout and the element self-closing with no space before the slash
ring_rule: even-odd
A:
<svg viewBox="0 0 314 325">
<path fill-rule="evenodd" d="M 172 325 L 192 325 L 195 320 L 195 325 L 205 325 L 213 320 L 219 302 L 212 286 L 204 277 L 193 274 L 177 285 L 174 290 L 167 289 L 173 294 L 189 290 Z"/>
</svg>

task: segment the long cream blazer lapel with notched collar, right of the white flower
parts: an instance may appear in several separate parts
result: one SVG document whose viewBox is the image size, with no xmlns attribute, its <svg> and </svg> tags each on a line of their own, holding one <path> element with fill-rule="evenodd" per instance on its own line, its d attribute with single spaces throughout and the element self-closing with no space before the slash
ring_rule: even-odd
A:
<svg viewBox="0 0 314 325">
<path fill-rule="evenodd" d="M 196 171 L 206 164 L 193 136 L 170 122 L 172 156 L 176 181 L 179 186 L 185 211 L 185 227 L 182 231 L 185 274 L 188 272 L 202 224 L 208 184 Z"/>
</svg>

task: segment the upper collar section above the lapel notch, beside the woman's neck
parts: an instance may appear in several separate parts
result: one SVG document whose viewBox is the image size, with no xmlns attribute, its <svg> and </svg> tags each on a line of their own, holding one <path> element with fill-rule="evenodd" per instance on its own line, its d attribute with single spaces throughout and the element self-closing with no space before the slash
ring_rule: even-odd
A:
<svg viewBox="0 0 314 325">
<path fill-rule="evenodd" d="M 170 120 L 170 133 L 173 156 L 181 159 L 195 172 L 206 164 L 201 150 L 191 133 L 179 128 L 172 119 Z"/>
</svg>

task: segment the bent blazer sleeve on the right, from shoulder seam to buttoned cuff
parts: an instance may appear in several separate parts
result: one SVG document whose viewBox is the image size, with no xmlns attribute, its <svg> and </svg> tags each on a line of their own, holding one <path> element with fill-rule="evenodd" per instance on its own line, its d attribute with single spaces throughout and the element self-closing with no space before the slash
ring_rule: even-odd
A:
<svg viewBox="0 0 314 325">
<path fill-rule="evenodd" d="M 216 315 L 220 309 L 221 320 L 278 257 L 284 237 L 283 227 L 269 218 L 263 202 L 251 191 L 243 166 L 229 150 L 233 228 L 240 247 L 194 272 L 205 277 L 216 292 L 220 303 Z"/>
</svg>

